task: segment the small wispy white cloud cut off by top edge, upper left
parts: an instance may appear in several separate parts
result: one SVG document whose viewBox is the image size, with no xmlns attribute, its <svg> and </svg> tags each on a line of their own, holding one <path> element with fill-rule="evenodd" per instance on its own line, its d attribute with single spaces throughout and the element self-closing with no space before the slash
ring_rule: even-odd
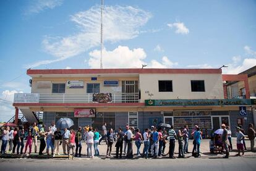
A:
<svg viewBox="0 0 256 171">
<path fill-rule="evenodd" d="M 45 9 L 54 9 L 54 7 L 61 6 L 62 2 L 63 0 L 33 0 L 24 14 L 38 14 Z"/>
</svg>

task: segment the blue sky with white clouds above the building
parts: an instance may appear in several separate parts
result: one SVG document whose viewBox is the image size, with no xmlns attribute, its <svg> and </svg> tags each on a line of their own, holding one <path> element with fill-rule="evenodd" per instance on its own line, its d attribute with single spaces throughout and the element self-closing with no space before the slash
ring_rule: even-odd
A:
<svg viewBox="0 0 256 171">
<path fill-rule="evenodd" d="M 0 122 L 27 69 L 100 68 L 100 0 L 0 1 Z M 256 1 L 105 0 L 103 68 L 256 65 Z"/>
</svg>

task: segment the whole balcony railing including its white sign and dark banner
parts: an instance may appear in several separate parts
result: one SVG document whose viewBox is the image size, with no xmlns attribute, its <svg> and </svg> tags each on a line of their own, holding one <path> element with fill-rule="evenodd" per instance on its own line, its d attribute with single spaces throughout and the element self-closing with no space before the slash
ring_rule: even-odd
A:
<svg viewBox="0 0 256 171">
<path fill-rule="evenodd" d="M 94 96 L 97 94 L 94 94 Z M 62 94 L 62 93 L 15 93 L 14 103 L 120 103 L 139 102 L 139 93 L 115 93 L 98 94 L 93 98 L 93 94 Z"/>
</svg>

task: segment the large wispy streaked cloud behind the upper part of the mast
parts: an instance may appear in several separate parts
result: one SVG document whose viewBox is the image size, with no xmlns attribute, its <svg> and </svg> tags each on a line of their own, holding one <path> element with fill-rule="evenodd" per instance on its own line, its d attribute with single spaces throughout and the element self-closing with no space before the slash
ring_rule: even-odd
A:
<svg viewBox="0 0 256 171">
<path fill-rule="evenodd" d="M 150 17 L 149 12 L 132 6 L 105 6 L 104 41 L 116 42 L 137 37 L 140 34 L 140 27 L 145 25 Z M 26 67 L 51 64 L 100 46 L 100 6 L 78 12 L 71 16 L 71 20 L 77 25 L 79 32 L 66 37 L 46 36 L 42 42 L 45 51 L 58 59 L 35 62 Z"/>
</svg>

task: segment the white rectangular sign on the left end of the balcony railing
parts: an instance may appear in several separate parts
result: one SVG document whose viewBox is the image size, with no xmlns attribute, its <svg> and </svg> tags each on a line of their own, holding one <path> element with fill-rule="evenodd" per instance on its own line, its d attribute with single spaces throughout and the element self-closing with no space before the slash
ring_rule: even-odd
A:
<svg viewBox="0 0 256 171">
<path fill-rule="evenodd" d="M 25 102 L 25 103 L 37 103 L 39 102 L 39 93 L 15 93 L 14 103 Z"/>
</svg>

